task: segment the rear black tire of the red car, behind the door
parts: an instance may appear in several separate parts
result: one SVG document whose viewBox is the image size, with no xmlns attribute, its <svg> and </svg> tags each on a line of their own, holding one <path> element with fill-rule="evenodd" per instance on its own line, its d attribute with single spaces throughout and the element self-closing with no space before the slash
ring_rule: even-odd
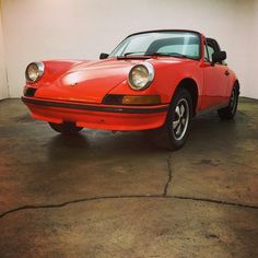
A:
<svg viewBox="0 0 258 258">
<path fill-rule="evenodd" d="M 228 105 L 218 110 L 218 115 L 220 116 L 221 119 L 230 120 L 235 117 L 237 105 L 238 105 L 238 95 L 239 95 L 239 90 L 237 85 L 235 85 L 233 87 Z"/>
</svg>

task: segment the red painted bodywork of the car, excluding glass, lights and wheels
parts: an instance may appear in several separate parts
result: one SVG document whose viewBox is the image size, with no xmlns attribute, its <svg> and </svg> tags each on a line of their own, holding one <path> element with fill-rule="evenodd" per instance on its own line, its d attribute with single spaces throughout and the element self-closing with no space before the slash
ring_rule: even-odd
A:
<svg viewBox="0 0 258 258">
<path fill-rule="evenodd" d="M 79 127 L 106 130 L 159 128 L 164 125 L 173 95 L 184 79 L 191 79 L 198 86 L 197 113 L 230 102 L 236 81 L 234 72 L 226 66 L 204 61 L 203 35 L 201 49 L 200 60 L 175 57 L 46 60 L 44 75 L 24 87 L 24 92 L 36 89 L 35 95 L 23 96 L 23 101 L 34 118 L 50 122 L 72 121 Z M 153 64 L 154 80 L 144 91 L 133 91 L 128 73 L 134 64 L 144 61 Z M 160 95 L 161 104 L 104 105 L 107 94 Z"/>
</svg>

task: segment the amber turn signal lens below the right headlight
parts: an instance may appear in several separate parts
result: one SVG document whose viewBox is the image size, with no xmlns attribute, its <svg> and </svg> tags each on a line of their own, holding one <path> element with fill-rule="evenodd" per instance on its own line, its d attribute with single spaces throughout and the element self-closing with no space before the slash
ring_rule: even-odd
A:
<svg viewBox="0 0 258 258">
<path fill-rule="evenodd" d="M 159 105 L 161 104 L 160 95 L 150 95 L 150 96 L 124 96 L 124 105 Z"/>
</svg>

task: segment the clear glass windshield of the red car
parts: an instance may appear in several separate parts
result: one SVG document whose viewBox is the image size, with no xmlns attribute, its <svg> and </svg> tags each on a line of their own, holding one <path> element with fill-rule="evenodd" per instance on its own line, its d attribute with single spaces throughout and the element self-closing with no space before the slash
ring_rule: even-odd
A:
<svg viewBox="0 0 258 258">
<path fill-rule="evenodd" d="M 109 55 L 126 56 L 175 56 L 200 59 L 200 36 L 194 32 L 150 32 L 127 37 Z"/>
</svg>

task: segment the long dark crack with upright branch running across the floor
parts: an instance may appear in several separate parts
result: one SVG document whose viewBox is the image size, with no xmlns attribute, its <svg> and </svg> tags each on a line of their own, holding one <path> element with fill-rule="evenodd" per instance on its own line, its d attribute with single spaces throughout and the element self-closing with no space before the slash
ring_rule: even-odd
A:
<svg viewBox="0 0 258 258">
<path fill-rule="evenodd" d="M 207 199 L 207 198 L 196 198 L 196 197 L 187 197 L 187 196 L 167 196 L 168 186 L 172 183 L 173 174 L 172 174 L 172 164 L 171 164 L 171 155 L 166 159 L 167 163 L 167 180 L 164 186 L 164 190 L 162 195 L 120 195 L 120 196 L 99 196 L 99 197 L 89 197 L 89 198 L 81 198 L 74 199 L 61 203 L 56 204 L 40 204 L 40 206 L 23 206 L 17 207 L 12 210 L 8 210 L 3 213 L 0 213 L 0 220 L 9 214 L 22 211 L 22 210 L 37 210 L 37 209 L 56 209 L 62 208 L 69 204 L 79 203 L 79 202 L 89 202 L 89 201 L 96 201 L 96 200 L 107 200 L 107 199 L 130 199 L 130 198 L 162 198 L 162 199 L 179 199 L 179 200 L 191 200 L 191 201 L 201 201 L 201 202 L 210 202 L 223 206 L 234 206 L 238 208 L 246 208 L 246 209 L 258 209 L 258 206 L 250 206 L 224 200 L 215 200 L 215 199 Z"/>
</svg>

